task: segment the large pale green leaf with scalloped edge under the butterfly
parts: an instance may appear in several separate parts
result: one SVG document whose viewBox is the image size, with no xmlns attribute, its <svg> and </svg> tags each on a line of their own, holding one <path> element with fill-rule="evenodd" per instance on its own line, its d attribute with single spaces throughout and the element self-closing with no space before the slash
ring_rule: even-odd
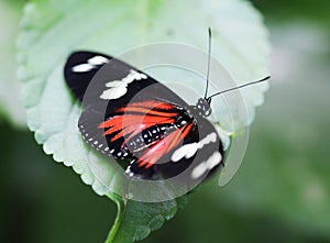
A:
<svg viewBox="0 0 330 243">
<path fill-rule="evenodd" d="M 16 42 L 19 78 L 23 84 L 28 125 L 35 133 L 36 142 L 56 162 L 72 166 L 98 195 L 107 195 L 119 205 L 127 200 L 118 198 L 118 195 L 125 196 L 127 185 L 116 169 L 117 163 L 86 146 L 78 132 L 80 104 L 73 100 L 63 79 L 66 58 L 76 49 L 117 56 L 138 45 L 164 41 L 205 49 L 208 26 L 215 33 L 212 55 L 239 82 L 268 74 L 267 33 L 260 14 L 244 1 L 34 0 L 26 3 Z M 266 87 L 258 85 L 242 91 L 248 123 L 253 120 L 254 107 L 262 103 Z M 118 218 L 114 224 L 119 225 L 114 234 L 119 241 L 143 239 L 161 227 L 164 219 L 172 218 L 180 205 L 176 200 L 153 205 L 129 200 L 123 218 L 119 214 L 121 220 Z"/>
</svg>

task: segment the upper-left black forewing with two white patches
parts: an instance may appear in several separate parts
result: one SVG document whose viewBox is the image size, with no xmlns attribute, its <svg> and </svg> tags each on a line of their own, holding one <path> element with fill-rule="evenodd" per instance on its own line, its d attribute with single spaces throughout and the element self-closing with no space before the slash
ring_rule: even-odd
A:
<svg viewBox="0 0 330 243">
<path fill-rule="evenodd" d="M 170 89 L 143 71 L 100 53 L 73 53 L 65 65 L 64 74 L 65 80 L 76 98 L 82 101 L 84 107 L 89 107 L 96 111 L 103 112 L 105 106 L 107 106 L 107 113 L 111 114 L 124 103 L 131 102 L 133 97 L 141 101 L 153 97 L 180 107 L 188 106 Z M 147 92 L 139 92 L 147 87 L 150 87 Z"/>
</svg>

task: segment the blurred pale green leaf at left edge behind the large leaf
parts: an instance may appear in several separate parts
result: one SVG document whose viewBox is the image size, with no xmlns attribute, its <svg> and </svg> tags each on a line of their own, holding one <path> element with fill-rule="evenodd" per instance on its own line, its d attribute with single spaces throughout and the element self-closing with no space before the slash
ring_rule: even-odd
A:
<svg viewBox="0 0 330 243">
<path fill-rule="evenodd" d="M 0 0 L 0 120 L 25 126 L 25 111 L 20 99 L 20 82 L 16 79 L 14 41 L 23 4 Z"/>
</svg>

